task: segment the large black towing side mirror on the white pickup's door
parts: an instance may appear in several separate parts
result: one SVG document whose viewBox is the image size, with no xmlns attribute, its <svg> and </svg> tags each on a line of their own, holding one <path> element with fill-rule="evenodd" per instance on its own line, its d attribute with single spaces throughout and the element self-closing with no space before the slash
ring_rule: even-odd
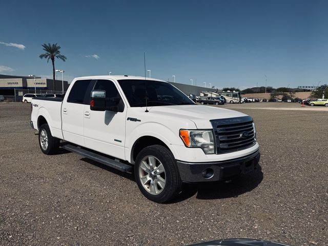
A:
<svg viewBox="0 0 328 246">
<path fill-rule="evenodd" d="M 106 91 L 92 90 L 90 97 L 90 110 L 123 112 L 124 104 L 120 105 L 120 97 L 106 97 Z"/>
</svg>

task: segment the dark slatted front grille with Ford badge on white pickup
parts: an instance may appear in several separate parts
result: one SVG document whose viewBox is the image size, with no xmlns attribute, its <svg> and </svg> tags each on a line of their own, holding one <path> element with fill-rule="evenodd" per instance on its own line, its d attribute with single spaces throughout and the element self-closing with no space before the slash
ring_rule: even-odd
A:
<svg viewBox="0 0 328 246">
<path fill-rule="evenodd" d="M 217 154 L 247 149 L 256 144 L 252 117 L 210 121 L 215 133 Z"/>
</svg>

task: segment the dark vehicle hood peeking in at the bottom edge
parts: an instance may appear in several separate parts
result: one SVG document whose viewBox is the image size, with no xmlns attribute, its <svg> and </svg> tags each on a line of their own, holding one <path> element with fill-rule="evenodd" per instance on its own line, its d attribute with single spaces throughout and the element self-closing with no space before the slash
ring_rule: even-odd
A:
<svg viewBox="0 0 328 246">
<path fill-rule="evenodd" d="M 260 240 L 260 239 L 230 238 L 230 239 L 219 239 L 215 241 L 190 244 L 189 246 L 289 246 L 289 245 L 279 242 Z"/>
</svg>

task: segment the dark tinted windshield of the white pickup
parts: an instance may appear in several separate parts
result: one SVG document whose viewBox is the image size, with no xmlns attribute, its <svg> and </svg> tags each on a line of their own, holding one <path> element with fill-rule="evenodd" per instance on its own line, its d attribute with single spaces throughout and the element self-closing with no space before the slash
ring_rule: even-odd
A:
<svg viewBox="0 0 328 246">
<path fill-rule="evenodd" d="M 120 79 L 118 83 L 131 107 L 146 107 L 146 80 Z M 192 105 L 188 96 L 169 83 L 147 80 L 147 106 Z"/>
</svg>

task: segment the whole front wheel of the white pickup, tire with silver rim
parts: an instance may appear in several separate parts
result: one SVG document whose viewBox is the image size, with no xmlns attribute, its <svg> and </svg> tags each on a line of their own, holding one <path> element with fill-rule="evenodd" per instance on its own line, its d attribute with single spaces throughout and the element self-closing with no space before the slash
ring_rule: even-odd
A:
<svg viewBox="0 0 328 246">
<path fill-rule="evenodd" d="M 134 165 L 139 190 L 148 199 L 163 203 L 181 191 L 181 178 L 171 151 L 161 145 L 141 150 Z"/>
</svg>

